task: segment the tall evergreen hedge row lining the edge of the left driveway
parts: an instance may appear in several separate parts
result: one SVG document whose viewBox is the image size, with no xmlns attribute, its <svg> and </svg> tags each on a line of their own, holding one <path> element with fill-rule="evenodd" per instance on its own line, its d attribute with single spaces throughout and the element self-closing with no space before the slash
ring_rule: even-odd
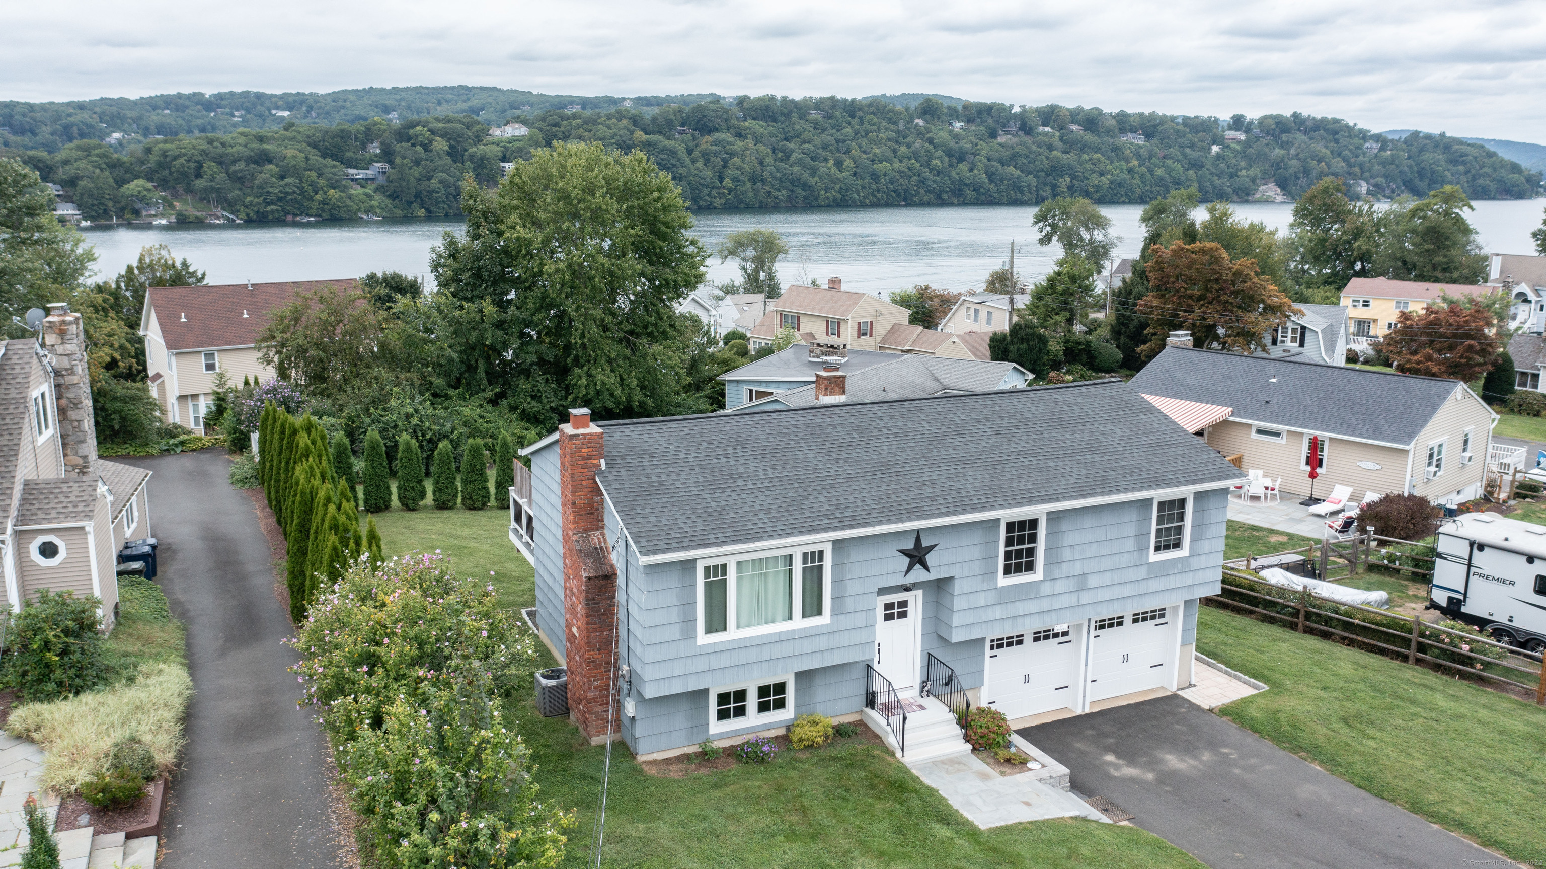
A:
<svg viewBox="0 0 1546 869">
<path fill-rule="evenodd" d="M 342 453 L 329 450 L 311 414 L 295 419 L 269 405 L 258 422 L 258 481 L 284 532 L 284 584 L 291 620 L 300 622 L 318 589 L 332 584 L 362 552 L 380 563 L 382 538 L 374 518 L 360 533 L 348 444 Z"/>
</svg>

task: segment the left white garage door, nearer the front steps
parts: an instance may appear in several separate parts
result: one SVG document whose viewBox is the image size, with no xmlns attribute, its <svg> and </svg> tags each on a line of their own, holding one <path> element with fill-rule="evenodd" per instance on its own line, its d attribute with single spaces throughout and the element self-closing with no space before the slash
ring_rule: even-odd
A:
<svg viewBox="0 0 1546 869">
<path fill-rule="evenodd" d="M 983 702 L 1011 719 L 1073 707 L 1082 628 L 1053 625 L 989 637 Z"/>
</svg>

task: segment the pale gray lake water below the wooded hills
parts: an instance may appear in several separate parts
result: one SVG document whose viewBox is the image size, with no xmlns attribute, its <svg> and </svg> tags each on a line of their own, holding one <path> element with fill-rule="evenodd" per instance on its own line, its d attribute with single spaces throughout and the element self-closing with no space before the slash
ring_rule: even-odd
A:
<svg viewBox="0 0 1546 869">
<path fill-rule="evenodd" d="M 1480 201 L 1469 215 L 1489 252 L 1529 254 L 1541 226 L 1541 199 Z M 1235 204 L 1235 212 L 1274 229 L 1288 226 L 1291 203 Z M 1122 237 L 1118 255 L 1135 257 L 1142 241 L 1142 206 L 1104 206 Z M 928 206 L 878 209 L 747 209 L 697 212 L 694 232 L 713 249 L 730 232 L 765 227 L 784 235 L 779 260 L 785 283 L 843 277 L 843 289 L 890 292 L 915 283 L 938 289 L 980 289 L 1019 241 L 1016 271 L 1034 280 L 1051 271 L 1059 250 L 1036 244 L 1036 206 Z M 167 224 L 85 229 L 97 271 L 114 275 L 145 244 L 169 244 L 209 274 L 209 283 L 322 280 L 399 271 L 428 278 L 430 247 L 459 220 Z M 734 261 L 710 258 L 711 280 L 737 277 Z"/>
</svg>

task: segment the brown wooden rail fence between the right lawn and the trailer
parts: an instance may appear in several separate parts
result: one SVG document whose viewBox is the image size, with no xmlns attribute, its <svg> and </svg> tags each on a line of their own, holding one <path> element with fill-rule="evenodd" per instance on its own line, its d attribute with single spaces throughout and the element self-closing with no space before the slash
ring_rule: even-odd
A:
<svg viewBox="0 0 1546 869">
<path fill-rule="evenodd" d="M 1467 677 L 1490 679 L 1535 694 L 1537 705 L 1546 705 L 1546 665 L 1541 656 L 1504 646 L 1483 637 L 1475 628 L 1459 622 L 1430 625 L 1416 617 L 1391 615 L 1367 606 L 1345 605 L 1311 594 L 1291 591 L 1262 581 L 1255 574 L 1224 571 L 1220 594 L 1203 598 L 1209 606 L 1243 609 L 1288 623 L 1300 634 L 1314 632 L 1322 639 L 1342 637 L 1350 645 L 1394 660 L 1416 665 L 1419 660 L 1449 666 Z M 1402 645 L 1391 645 L 1401 640 Z M 1535 670 L 1518 666 L 1509 656 L 1534 660 Z M 1490 673 L 1503 668 L 1523 673 L 1529 682 Z"/>
</svg>

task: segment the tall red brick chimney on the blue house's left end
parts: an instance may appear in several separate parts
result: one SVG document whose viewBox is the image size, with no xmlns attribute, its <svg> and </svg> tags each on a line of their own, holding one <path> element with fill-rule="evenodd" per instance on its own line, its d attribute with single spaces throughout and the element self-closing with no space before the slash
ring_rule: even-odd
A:
<svg viewBox="0 0 1546 869">
<path fill-rule="evenodd" d="M 569 716 L 592 742 L 608 736 L 612 640 L 617 629 L 617 567 L 606 541 L 601 487 L 601 430 L 591 411 L 569 411 L 558 427 L 558 503 L 564 554 L 564 665 Z M 617 714 L 611 716 L 618 721 Z"/>
</svg>

